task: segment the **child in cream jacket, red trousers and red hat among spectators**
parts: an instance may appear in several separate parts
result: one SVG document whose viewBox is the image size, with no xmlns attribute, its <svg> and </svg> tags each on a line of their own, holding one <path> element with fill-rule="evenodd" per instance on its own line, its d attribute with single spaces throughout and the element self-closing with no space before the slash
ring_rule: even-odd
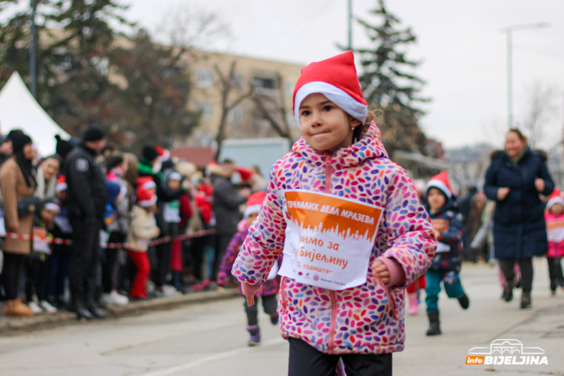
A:
<svg viewBox="0 0 564 376">
<path fill-rule="evenodd" d="M 155 221 L 157 210 L 157 195 L 151 190 L 139 188 L 137 190 L 137 202 L 131 210 L 131 223 L 126 240 L 126 252 L 137 267 L 137 274 L 129 296 L 133 300 L 146 300 L 147 280 L 151 272 L 149 257 L 147 254 L 149 241 L 157 238 L 160 234 L 159 227 Z"/>
</svg>

